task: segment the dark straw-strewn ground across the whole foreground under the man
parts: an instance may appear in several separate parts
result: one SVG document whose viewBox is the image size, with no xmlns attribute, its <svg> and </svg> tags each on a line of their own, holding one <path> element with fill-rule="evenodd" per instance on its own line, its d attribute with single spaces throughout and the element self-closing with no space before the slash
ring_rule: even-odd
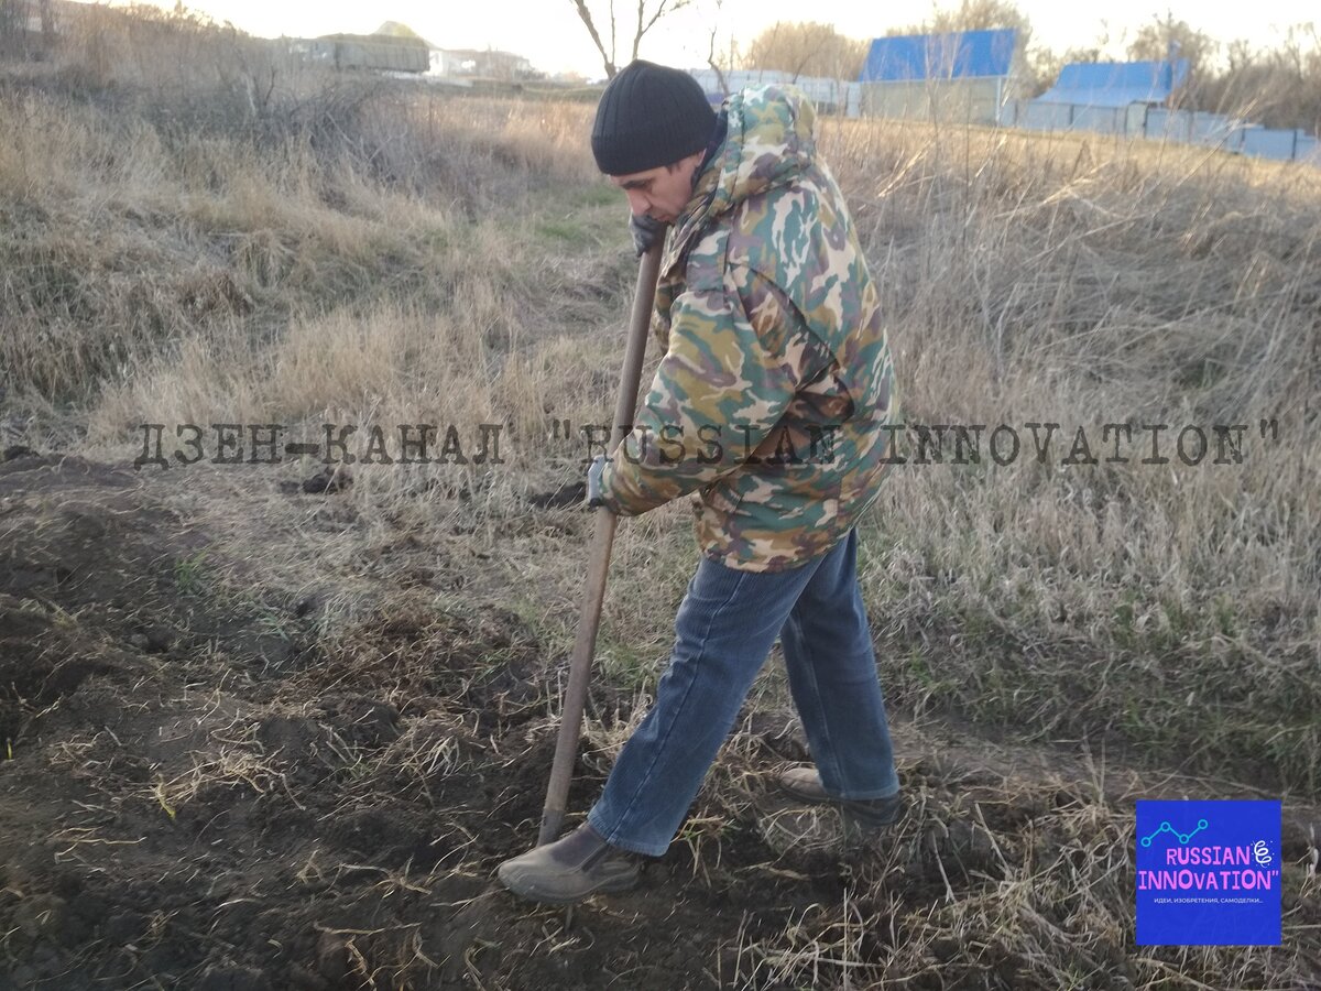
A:
<svg viewBox="0 0 1321 991">
<path fill-rule="evenodd" d="M 398 583 L 332 633 L 303 589 L 209 583 L 223 552 L 131 469 L 0 464 L 0 987 L 1321 987 L 1316 807 L 1284 947 L 1137 954 L 1132 799 L 1250 790 L 948 724 L 896 727 L 911 813 L 841 851 L 768 798 L 791 717 L 748 712 L 639 891 L 519 904 L 491 876 L 535 835 L 563 658 Z M 575 810 L 635 704 L 594 695 Z"/>
</svg>

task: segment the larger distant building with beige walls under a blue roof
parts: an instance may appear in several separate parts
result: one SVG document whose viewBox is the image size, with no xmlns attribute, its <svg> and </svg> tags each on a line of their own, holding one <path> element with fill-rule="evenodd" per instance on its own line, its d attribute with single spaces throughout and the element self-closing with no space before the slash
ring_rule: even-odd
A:
<svg viewBox="0 0 1321 991">
<path fill-rule="evenodd" d="M 1012 95 L 1017 32 L 876 38 L 859 77 L 864 114 L 995 124 Z"/>
</svg>

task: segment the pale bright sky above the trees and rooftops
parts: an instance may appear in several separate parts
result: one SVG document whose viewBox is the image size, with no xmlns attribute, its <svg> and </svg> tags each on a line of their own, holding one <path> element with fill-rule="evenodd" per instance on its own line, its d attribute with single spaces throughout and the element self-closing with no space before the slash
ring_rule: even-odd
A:
<svg viewBox="0 0 1321 991">
<path fill-rule="evenodd" d="M 172 8 L 173 0 L 155 0 Z M 647 0 L 651 8 L 655 0 Z M 573 0 L 376 0 L 371 4 L 347 0 L 194 0 L 185 3 L 215 21 L 259 37 L 316 37 L 318 34 L 369 34 L 383 21 L 400 21 L 437 48 L 502 49 L 518 53 L 548 74 L 576 71 L 588 78 L 604 75 L 601 58 L 573 8 Z M 871 38 L 886 28 L 921 24 L 937 5 L 956 5 L 956 0 L 695 0 L 674 15 L 666 15 L 643 38 L 639 55 L 680 67 L 707 63 L 712 29 L 717 49 L 727 50 L 729 38 L 746 46 L 775 21 L 814 20 L 834 24 L 841 34 Z M 609 0 L 588 0 L 593 13 L 609 8 Z M 1108 54 L 1123 57 L 1123 38 L 1166 12 L 1221 41 L 1247 38 L 1258 46 L 1271 46 L 1291 24 L 1316 21 L 1321 15 L 1316 0 L 1254 0 L 1252 4 L 1205 0 L 1106 0 L 1103 4 L 1061 3 L 1061 0 L 1017 0 L 1032 21 L 1033 44 L 1062 53 L 1069 48 L 1091 46 L 1110 37 Z M 631 0 L 616 0 L 621 12 L 620 55 L 629 61 L 626 46 L 633 29 L 626 25 Z M 609 22 L 598 18 L 598 29 Z M 609 41 L 606 40 L 606 45 Z"/>
</svg>

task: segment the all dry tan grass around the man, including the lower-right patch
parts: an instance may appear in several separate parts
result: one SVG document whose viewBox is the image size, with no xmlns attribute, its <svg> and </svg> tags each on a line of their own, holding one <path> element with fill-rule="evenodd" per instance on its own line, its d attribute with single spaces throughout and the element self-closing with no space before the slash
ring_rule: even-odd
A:
<svg viewBox="0 0 1321 991">
<path fill-rule="evenodd" d="M 624 203 L 587 152 L 590 107 L 301 73 L 258 106 L 251 63 L 166 78 L 70 58 L 81 75 L 0 89 L 5 443 L 128 460 L 144 422 L 273 422 L 292 439 L 324 422 L 453 423 L 465 440 L 502 424 L 503 465 L 355 466 L 333 509 L 275 488 L 312 462 L 180 468 L 152 486 L 232 534 L 221 577 L 322 595 L 332 647 L 425 560 L 446 589 L 429 593 L 437 613 L 499 601 L 563 658 L 584 515 L 526 497 L 579 477 L 581 448 L 551 420 L 608 415 L 634 271 Z M 234 85 L 229 110 L 201 114 Z M 162 123 L 173 99 L 189 127 Z M 823 145 L 890 313 L 905 419 L 1007 423 L 1024 444 L 1008 466 L 897 466 L 863 527 L 894 711 L 952 710 L 1314 801 L 1321 173 L 884 122 L 824 122 Z M 1032 461 L 1029 422 L 1061 424 L 1052 464 Z M 1059 462 L 1078 427 L 1104 459 L 1110 422 L 1243 423 L 1244 459 L 1144 465 L 1135 444 L 1128 464 Z M 671 506 L 621 527 L 600 651 L 621 691 L 645 691 L 663 661 L 692 566 L 686 519 Z M 768 673 L 758 704 L 781 692 Z M 625 728 L 593 721 L 589 760 L 604 766 Z M 750 822 L 738 781 L 754 749 L 736 737 L 695 810 L 695 869 Z M 396 751 L 421 788 L 462 762 L 420 727 Z M 942 987 L 995 973 L 993 986 L 1081 988 L 1122 971 L 1112 986 L 1247 988 L 1317 973 L 1314 933 L 1288 921 L 1293 957 L 1133 955 L 1131 795 L 1001 777 L 972 799 L 939 768 L 905 772 L 918 814 L 900 840 L 844 902 L 749 932 L 724 979 Z M 774 869 L 820 868 L 801 858 Z M 1295 880 L 1296 909 L 1314 869 Z M 905 896 L 914 884 L 930 891 Z"/>
</svg>

